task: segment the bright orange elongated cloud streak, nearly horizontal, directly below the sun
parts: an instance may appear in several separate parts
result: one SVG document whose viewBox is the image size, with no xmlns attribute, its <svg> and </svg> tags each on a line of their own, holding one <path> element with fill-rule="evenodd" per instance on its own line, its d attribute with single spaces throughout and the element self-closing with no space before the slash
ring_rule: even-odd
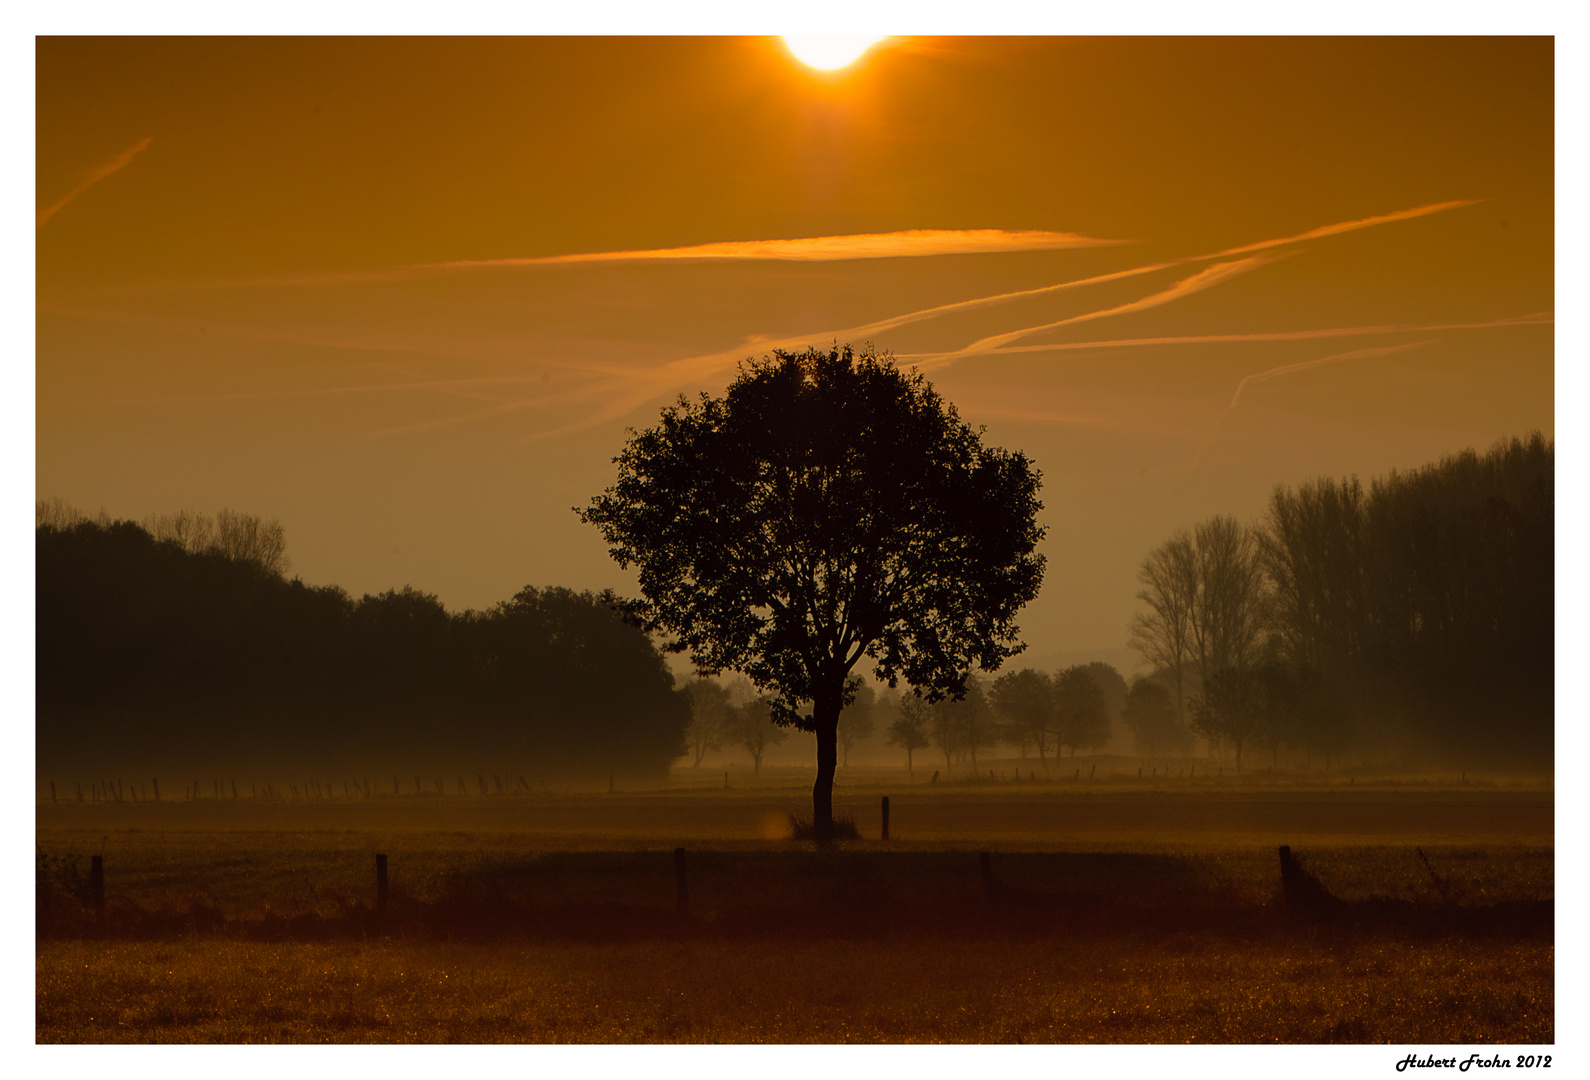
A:
<svg viewBox="0 0 1590 1080">
<path fill-rule="evenodd" d="M 1073 232 L 1043 229 L 905 229 L 902 232 L 859 232 L 797 240 L 725 240 L 682 248 L 636 251 L 585 251 L 510 259 L 455 259 L 417 262 L 405 269 L 477 270 L 515 266 L 564 266 L 571 262 L 646 262 L 660 259 L 782 259 L 832 262 L 840 259 L 897 259 L 932 254 L 997 254 L 1005 251 L 1051 251 L 1057 248 L 1099 248 L 1124 240 L 1096 240 Z"/>
</svg>

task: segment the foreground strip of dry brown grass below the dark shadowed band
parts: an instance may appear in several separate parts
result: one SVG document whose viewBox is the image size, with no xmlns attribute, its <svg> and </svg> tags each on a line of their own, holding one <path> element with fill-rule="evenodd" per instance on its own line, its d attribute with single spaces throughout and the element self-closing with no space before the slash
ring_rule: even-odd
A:
<svg viewBox="0 0 1590 1080">
<path fill-rule="evenodd" d="M 43 943 L 40 1042 L 1550 1043 L 1552 946 Z"/>
</svg>

